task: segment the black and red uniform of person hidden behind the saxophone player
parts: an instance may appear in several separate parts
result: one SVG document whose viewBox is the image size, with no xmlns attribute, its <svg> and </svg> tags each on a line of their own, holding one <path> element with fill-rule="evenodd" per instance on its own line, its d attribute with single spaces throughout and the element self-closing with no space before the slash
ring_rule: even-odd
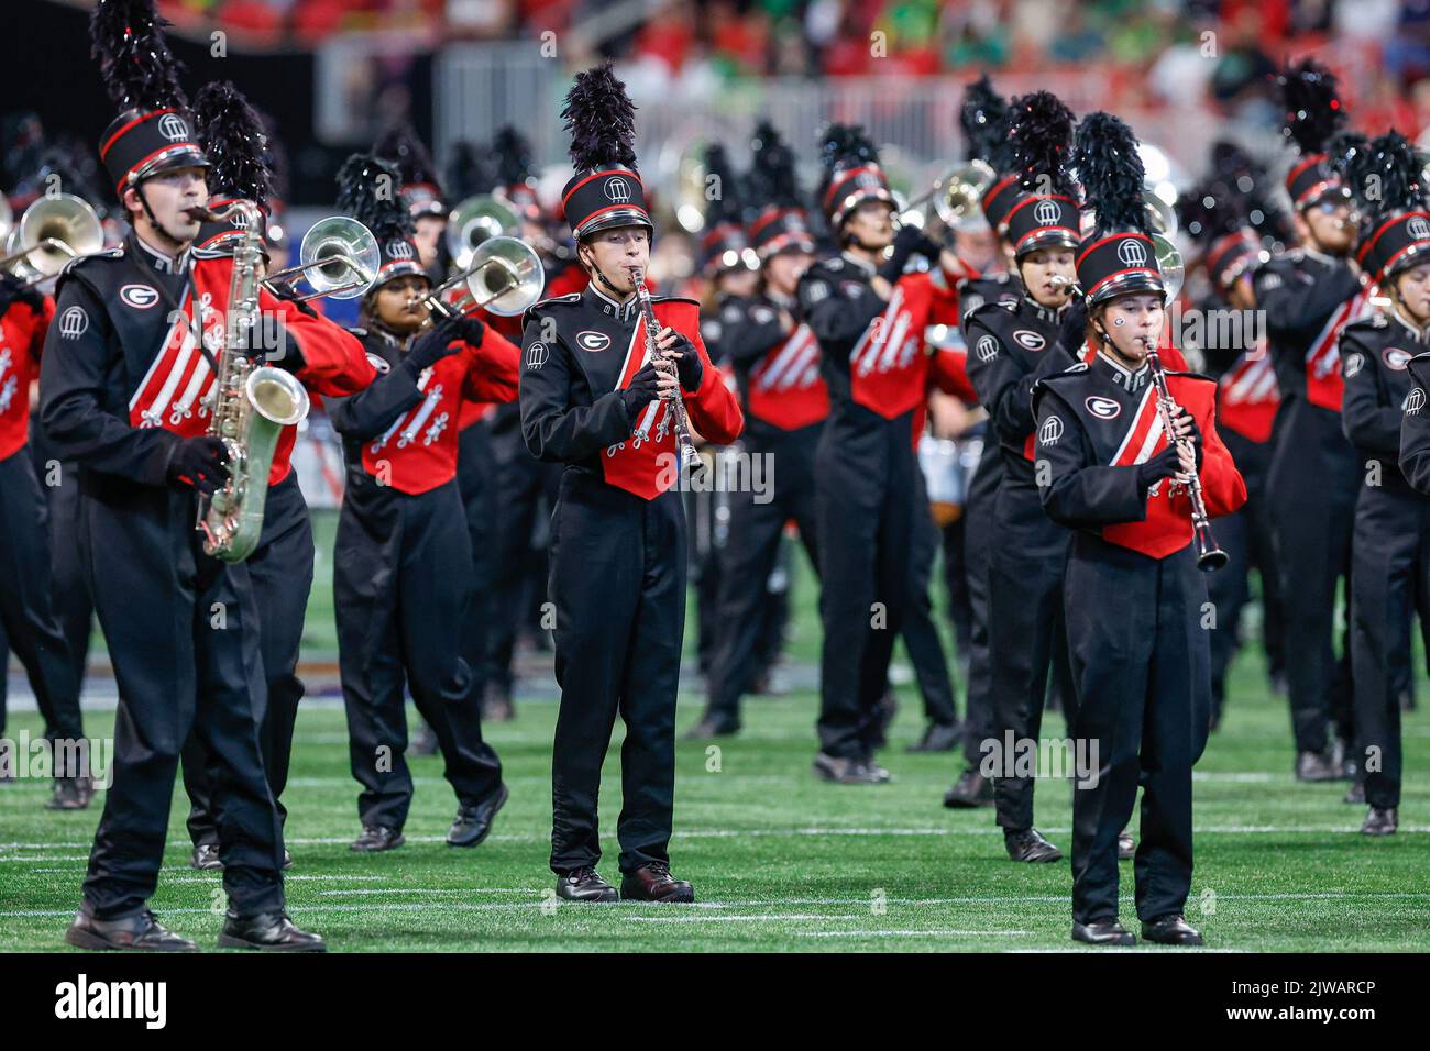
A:
<svg viewBox="0 0 1430 1051">
<path fill-rule="evenodd" d="M 223 256 L 222 260 L 223 266 L 232 266 L 232 257 Z M 216 265 L 219 263 L 212 256 L 200 255 L 194 269 L 202 272 Z M 295 345 L 270 347 L 270 360 L 280 360 L 282 355 L 295 355 L 296 360 L 289 363 L 289 369 L 310 395 L 329 398 L 352 395 L 376 379 L 378 370 L 368 360 L 362 343 L 342 326 L 305 312 L 287 299 L 275 300 L 266 293 L 262 296 L 262 306 L 282 320 L 295 340 Z M 279 433 L 267 478 L 263 531 L 257 548 L 245 559 L 253 585 L 259 649 L 267 684 L 267 705 L 260 712 L 259 744 L 263 749 L 263 769 L 282 821 L 287 819 L 282 795 L 287 785 L 293 754 L 297 706 L 303 699 L 297 659 L 303 642 L 307 596 L 313 588 L 313 523 L 303 490 L 293 473 L 292 455 L 296 440 L 297 425 L 286 426 Z M 183 749 L 183 781 L 192 804 L 187 825 L 194 847 L 219 842 L 213 778 L 207 772 L 207 762 L 209 752 L 202 738 L 190 736 Z"/>
</svg>

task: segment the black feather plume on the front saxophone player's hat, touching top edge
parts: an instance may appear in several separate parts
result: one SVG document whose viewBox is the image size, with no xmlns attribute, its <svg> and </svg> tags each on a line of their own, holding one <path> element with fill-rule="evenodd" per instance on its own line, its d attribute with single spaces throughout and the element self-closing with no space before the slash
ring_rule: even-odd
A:
<svg viewBox="0 0 1430 1051">
<path fill-rule="evenodd" d="M 154 0 L 99 0 L 90 14 L 90 54 L 99 59 L 104 90 L 120 112 L 189 109 L 166 26 Z"/>
</svg>

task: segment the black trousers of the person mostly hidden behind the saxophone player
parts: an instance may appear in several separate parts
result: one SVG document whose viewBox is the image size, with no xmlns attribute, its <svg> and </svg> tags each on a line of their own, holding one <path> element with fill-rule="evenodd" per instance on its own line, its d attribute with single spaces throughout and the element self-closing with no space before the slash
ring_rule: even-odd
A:
<svg viewBox="0 0 1430 1051">
<path fill-rule="evenodd" d="M 280 821 L 287 821 L 283 789 L 293 758 L 293 726 L 303 699 L 297 658 L 303 643 L 303 618 L 313 589 L 313 523 L 297 475 L 269 488 L 263 505 L 259 545 L 245 561 L 253 583 L 259 622 L 259 652 L 267 682 L 267 705 L 255 712 L 259 745 L 269 791 Z M 213 776 L 209 752 L 197 734 L 183 748 L 183 784 L 189 792 L 189 838 L 194 845 L 217 844 L 219 825 L 213 806 Z"/>
</svg>

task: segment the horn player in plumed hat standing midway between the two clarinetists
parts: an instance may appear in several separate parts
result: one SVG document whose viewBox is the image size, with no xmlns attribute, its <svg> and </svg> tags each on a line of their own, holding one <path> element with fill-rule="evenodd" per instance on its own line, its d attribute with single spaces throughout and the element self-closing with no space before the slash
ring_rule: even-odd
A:
<svg viewBox="0 0 1430 1051">
<path fill-rule="evenodd" d="M 871 785 L 889 779 L 874 748 L 909 591 L 918 493 L 911 436 L 912 412 L 927 398 L 924 330 L 957 320 L 952 287 L 965 272 L 915 227 L 894 237 L 894 197 L 862 129 L 832 126 L 822 162 L 821 204 L 841 255 L 799 280 L 799 317 L 819 343 L 831 402 L 815 453 L 824 643 L 814 771 Z M 942 287 L 930 273 L 904 273 L 915 253 L 940 260 Z"/>
</svg>

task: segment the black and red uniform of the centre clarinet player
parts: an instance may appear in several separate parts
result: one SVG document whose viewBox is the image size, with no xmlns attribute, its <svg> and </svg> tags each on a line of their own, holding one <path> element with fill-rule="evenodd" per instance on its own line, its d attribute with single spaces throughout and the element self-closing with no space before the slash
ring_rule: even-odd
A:
<svg viewBox="0 0 1430 1051">
<path fill-rule="evenodd" d="M 654 309 L 701 360 L 698 389 L 685 396 L 692 429 L 719 445 L 735 440 L 744 419 L 701 340 L 699 306 L 656 297 Z M 668 406 L 632 412 L 622 398 L 645 356 L 633 297 L 618 303 L 592 285 L 526 312 L 522 432 L 533 456 L 565 465 L 549 586 L 561 685 L 552 756 L 558 874 L 601 858 L 596 796 L 618 712 L 626 725 L 621 869 L 669 861 L 686 539 Z M 656 418 L 641 440 L 633 432 L 649 410 Z"/>
</svg>

